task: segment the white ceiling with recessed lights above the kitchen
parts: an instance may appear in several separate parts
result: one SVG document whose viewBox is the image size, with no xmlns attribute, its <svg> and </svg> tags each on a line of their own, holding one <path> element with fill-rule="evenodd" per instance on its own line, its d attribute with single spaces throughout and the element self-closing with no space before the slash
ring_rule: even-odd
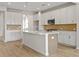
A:
<svg viewBox="0 0 79 59">
<path fill-rule="evenodd" d="M 64 3 L 66 2 L 9 2 L 9 3 L 0 2 L 0 6 L 19 9 L 19 10 L 25 10 L 30 12 L 37 12 L 37 11 L 46 10 Z"/>
</svg>

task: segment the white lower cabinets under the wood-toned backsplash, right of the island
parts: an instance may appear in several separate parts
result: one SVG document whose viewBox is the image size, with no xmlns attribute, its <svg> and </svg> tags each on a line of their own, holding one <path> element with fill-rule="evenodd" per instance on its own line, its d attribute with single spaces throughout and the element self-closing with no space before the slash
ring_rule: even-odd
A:
<svg viewBox="0 0 79 59">
<path fill-rule="evenodd" d="M 76 46 L 76 32 L 75 31 L 59 31 L 59 43 Z"/>
</svg>

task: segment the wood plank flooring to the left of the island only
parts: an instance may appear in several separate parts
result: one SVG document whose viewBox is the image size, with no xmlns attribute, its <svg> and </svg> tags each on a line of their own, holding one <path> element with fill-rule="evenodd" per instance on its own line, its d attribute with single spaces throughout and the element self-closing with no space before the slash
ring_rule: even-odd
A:
<svg viewBox="0 0 79 59">
<path fill-rule="evenodd" d="M 1 57 L 36 57 L 42 56 L 41 54 L 33 51 L 32 49 L 25 49 L 22 47 L 20 41 L 16 42 L 0 42 L 0 56 Z"/>
</svg>

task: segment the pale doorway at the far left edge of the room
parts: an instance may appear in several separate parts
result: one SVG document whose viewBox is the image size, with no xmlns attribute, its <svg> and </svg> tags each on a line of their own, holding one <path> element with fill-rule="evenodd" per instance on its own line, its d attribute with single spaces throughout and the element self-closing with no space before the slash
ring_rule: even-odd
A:
<svg viewBox="0 0 79 59">
<path fill-rule="evenodd" d="M 4 11 L 0 11 L 0 41 L 5 39 L 5 14 Z"/>
</svg>

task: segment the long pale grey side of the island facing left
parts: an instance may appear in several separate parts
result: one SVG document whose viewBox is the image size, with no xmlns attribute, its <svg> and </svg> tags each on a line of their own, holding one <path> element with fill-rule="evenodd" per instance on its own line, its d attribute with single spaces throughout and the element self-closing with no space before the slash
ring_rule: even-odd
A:
<svg viewBox="0 0 79 59">
<path fill-rule="evenodd" d="M 23 44 L 45 55 L 45 35 L 23 33 Z"/>
</svg>

